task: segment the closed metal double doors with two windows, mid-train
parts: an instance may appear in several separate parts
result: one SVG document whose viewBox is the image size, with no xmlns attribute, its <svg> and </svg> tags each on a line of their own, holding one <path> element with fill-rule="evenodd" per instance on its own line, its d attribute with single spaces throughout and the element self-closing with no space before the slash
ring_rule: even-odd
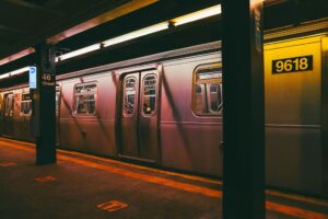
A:
<svg viewBox="0 0 328 219">
<path fill-rule="evenodd" d="M 128 73 L 122 78 L 122 157 L 159 160 L 159 78 L 157 70 Z"/>
</svg>

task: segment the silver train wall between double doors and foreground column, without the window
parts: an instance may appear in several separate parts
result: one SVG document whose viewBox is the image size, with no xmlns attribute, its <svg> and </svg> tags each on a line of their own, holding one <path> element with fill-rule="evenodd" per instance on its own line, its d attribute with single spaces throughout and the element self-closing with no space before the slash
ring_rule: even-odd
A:
<svg viewBox="0 0 328 219">
<path fill-rule="evenodd" d="M 221 118 L 197 116 L 192 112 L 195 69 L 219 60 L 215 54 L 164 64 L 161 113 L 164 166 L 222 175 Z"/>
</svg>

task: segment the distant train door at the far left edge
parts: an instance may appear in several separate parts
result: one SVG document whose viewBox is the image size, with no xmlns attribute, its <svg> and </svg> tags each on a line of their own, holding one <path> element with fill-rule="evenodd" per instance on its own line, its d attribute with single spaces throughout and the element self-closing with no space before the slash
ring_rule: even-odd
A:
<svg viewBox="0 0 328 219">
<path fill-rule="evenodd" d="M 14 113 L 14 95 L 13 93 L 4 94 L 4 115 L 3 115 L 3 135 L 13 136 L 13 113 Z"/>
</svg>

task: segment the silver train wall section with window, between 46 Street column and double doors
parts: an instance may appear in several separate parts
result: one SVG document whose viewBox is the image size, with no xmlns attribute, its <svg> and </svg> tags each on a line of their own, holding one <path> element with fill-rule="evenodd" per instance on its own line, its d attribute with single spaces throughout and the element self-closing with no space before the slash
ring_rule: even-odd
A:
<svg viewBox="0 0 328 219">
<path fill-rule="evenodd" d="M 61 146 L 102 155 L 116 154 L 116 87 L 109 73 L 61 82 Z"/>
</svg>

